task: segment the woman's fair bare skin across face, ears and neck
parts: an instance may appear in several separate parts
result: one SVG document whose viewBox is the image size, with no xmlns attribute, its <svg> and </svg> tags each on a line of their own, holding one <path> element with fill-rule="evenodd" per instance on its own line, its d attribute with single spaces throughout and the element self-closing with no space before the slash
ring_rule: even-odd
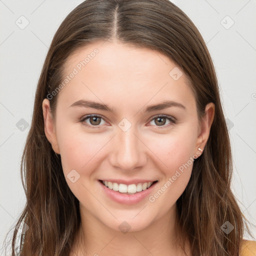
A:
<svg viewBox="0 0 256 256">
<path fill-rule="evenodd" d="M 116 41 L 93 43 L 72 54 L 66 61 L 65 74 L 94 48 L 99 53 L 58 92 L 54 121 L 49 100 L 42 103 L 45 135 L 61 155 L 66 182 L 80 202 L 79 238 L 86 253 L 77 245 L 70 256 L 181 255 L 174 231 L 176 200 L 189 181 L 192 164 L 153 202 L 149 196 L 131 205 L 113 201 L 98 180 L 158 180 L 150 193 L 154 195 L 189 157 L 198 155 L 198 147 L 204 148 L 214 104 L 206 105 L 200 129 L 185 74 L 177 80 L 169 75 L 175 63 L 160 52 Z M 70 107 L 80 99 L 107 104 L 115 112 Z M 164 100 L 177 101 L 185 109 L 171 106 L 145 111 L 147 106 Z M 99 124 L 90 118 L 83 121 L 89 126 L 79 122 L 88 114 L 101 115 Z M 154 116 L 159 114 L 174 117 L 176 123 L 167 118 L 157 122 Z M 126 131 L 118 126 L 123 118 L 131 124 Z M 74 183 L 67 178 L 72 169 L 80 175 Z M 118 227 L 123 221 L 130 226 L 126 233 Z M 188 245 L 186 250 L 191 255 Z"/>
</svg>

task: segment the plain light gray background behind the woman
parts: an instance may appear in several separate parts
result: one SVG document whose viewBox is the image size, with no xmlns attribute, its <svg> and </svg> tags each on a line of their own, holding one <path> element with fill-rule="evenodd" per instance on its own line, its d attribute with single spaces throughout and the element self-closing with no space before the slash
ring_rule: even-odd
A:
<svg viewBox="0 0 256 256">
<path fill-rule="evenodd" d="M 42 64 L 61 21 L 80 2 L 0 0 L 0 248 L 25 203 L 20 159 Z M 256 1 L 172 2 L 198 27 L 213 59 L 233 151 L 232 190 L 256 235 Z M 16 126 L 21 118 L 28 127 Z"/>
</svg>

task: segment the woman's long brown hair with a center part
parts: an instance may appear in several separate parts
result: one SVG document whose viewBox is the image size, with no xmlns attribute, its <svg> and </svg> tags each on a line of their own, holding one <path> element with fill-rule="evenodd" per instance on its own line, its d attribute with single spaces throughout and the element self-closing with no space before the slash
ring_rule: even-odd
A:
<svg viewBox="0 0 256 256">
<path fill-rule="evenodd" d="M 176 201 L 178 234 L 181 244 L 188 238 L 192 255 L 238 256 L 244 224 L 247 230 L 248 226 L 230 189 L 231 149 L 214 66 L 195 25 L 168 0 L 85 0 L 60 24 L 38 80 L 21 159 L 27 201 L 13 232 L 12 255 L 17 227 L 23 222 L 28 229 L 18 242 L 21 256 L 68 256 L 71 251 L 80 226 L 79 201 L 65 181 L 60 155 L 44 134 L 42 101 L 61 83 L 68 56 L 91 42 L 107 39 L 154 49 L 174 61 L 188 77 L 199 120 L 206 104 L 215 104 L 203 153 L 194 160 L 190 180 Z M 50 98 L 53 116 L 57 95 Z M 234 226 L 228 234 L 221 229 L 225 221 Z"/>
</svg>

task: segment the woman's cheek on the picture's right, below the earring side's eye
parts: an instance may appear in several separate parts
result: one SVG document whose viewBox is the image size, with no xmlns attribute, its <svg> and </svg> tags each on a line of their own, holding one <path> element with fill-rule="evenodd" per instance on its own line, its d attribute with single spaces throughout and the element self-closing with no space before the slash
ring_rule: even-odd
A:
<svg viewBox="0 0 256 256">
<path fill-rule="evenodd" d="M 166 136 L 157 145 L 156 155 L 161 161 L 158 166 L 162 172 L 158 190 L 151 194 L 149 201 L 161 208 L 162 212 L 168 210 L 184 191 L 193 166 L 194 134 L 192 132 Z M 155 141 L 156 142 L 156 141 Z"/>
</svg>

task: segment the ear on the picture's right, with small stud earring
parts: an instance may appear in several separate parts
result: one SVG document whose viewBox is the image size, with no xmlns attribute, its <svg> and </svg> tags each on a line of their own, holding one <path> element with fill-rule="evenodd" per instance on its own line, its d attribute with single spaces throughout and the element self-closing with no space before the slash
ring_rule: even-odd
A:
<svg viewBox="0 0 256 256">
<path fill-rule="evenodd" d="M 208 140 L 210 134 L 210 127 L 214 119 L 215 105 L 210 102 L 205 106 L 205 115 L 202 118 L 201 127 L 198 128 L 198 136 L 196 139 L 195 151 L 198 152 L 198 147 L 202 150 Z M 202 152 L 200 152 L 201 154 Z"/>
</svg>

